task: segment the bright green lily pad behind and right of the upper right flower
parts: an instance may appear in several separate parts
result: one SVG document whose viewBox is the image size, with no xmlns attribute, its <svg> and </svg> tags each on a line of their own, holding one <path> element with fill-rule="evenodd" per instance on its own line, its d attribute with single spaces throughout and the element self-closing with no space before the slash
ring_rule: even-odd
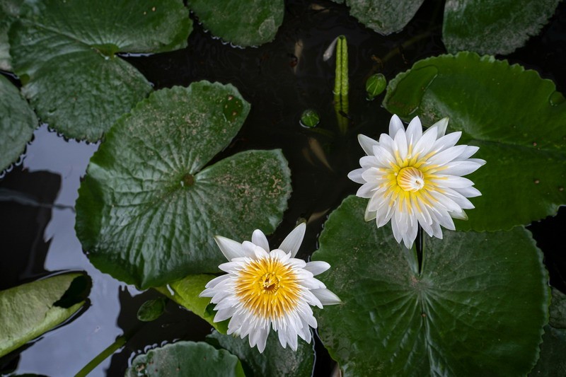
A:
<svg viewBox="0 0 566 377">
<path fill-rule="evenodd" d="M 535 71 L 470 52 L 420 60 L 389 82 L 383 105 L 424 124 L 450 117 L 487 164 L 468 177 L 482 192 L 457 229 L 509 229 L 566 204 L 566 101 Z"/>
</svg>

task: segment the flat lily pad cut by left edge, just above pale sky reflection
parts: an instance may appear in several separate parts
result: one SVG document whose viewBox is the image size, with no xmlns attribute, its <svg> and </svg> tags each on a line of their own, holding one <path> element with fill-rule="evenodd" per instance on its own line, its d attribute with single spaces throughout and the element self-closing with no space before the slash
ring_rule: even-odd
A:
<svg viewBox="0 0 566 377">
<path fill-rule="evenodd" d="M 20 91 L 0 75 L 0 172 L 16 161 L 37 127 L 37 117 Z"/>
</svg>

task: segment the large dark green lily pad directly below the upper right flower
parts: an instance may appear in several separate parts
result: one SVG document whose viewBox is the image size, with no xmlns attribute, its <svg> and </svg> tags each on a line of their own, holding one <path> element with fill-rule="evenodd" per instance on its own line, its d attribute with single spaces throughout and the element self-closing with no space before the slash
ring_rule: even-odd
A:
<svg viewBox="0 0 566 377">
<path fill-rule="evenodd" d="M 343 304 L 318 311 L 318 333 L 345 376 L 528 373 L 548 320 L 548 276 L 528 231 L 445 231 L 414 251 L 364 221 L 366 200 L 330 214 L 313 260 Z"/>
</svg>

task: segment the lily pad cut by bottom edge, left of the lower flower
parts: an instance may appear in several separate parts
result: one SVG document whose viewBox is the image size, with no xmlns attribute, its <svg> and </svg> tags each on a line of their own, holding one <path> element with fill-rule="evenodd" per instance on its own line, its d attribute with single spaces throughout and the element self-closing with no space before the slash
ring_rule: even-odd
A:
<svg viewBox="0 0 566 377">
<path fill-rule="evenodd" d="M 236 356 L 204 342 L 177 342 L 151 349 L 132 361 L 125 377 L 199 376 L 245 377 Z"/>
</svg>

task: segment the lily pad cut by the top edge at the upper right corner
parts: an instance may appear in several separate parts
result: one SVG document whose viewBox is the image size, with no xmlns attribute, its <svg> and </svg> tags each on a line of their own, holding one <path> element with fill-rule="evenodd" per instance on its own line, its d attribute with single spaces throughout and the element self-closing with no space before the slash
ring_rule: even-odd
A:
<svg viewBox="0 0 566 377">
<path fill-rule="evenodd" d="M 446 0 L 442 40 L 449 52 L 510 54 L 537 35 L 560 0 Z"/>
</svg>

